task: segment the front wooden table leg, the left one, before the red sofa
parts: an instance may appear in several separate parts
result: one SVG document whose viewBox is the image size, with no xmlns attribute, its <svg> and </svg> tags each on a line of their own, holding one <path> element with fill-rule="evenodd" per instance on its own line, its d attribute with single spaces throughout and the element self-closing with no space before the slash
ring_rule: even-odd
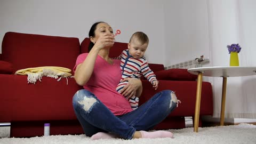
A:
<svg viewBox="0 0 256 144">
<path fill-rule="evenodd" d="M 202 90 L 202 77 L 203 77 L 203 74 L 199 72 L 198 76 L 197 76 L 194 132 L 198 132 L 200 101 L 201 101 L 201 90 Z"/>
</svg>

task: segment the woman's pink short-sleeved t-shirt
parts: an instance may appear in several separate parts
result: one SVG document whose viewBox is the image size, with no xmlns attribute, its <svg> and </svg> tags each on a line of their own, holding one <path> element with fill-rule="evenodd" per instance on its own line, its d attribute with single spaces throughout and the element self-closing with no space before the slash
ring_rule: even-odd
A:
<svg viewBox="0 0 256 144">
<path fill-rule="evenodd" d="M 87 55 L 88 53 L 82 53 L 77 57 L 74 71 L 76 66 L 82 63 Z M 124 96 L 116 91 L 116 86 L 122 74 L 120 61 L 113 61 L 113 65 L 110 65 L 98 55 L 92 76 L 84 86 L 84 89 L 92 92 L 114 115 L 123 115 L 132 111 L 132 108 Z"/>
</svg>

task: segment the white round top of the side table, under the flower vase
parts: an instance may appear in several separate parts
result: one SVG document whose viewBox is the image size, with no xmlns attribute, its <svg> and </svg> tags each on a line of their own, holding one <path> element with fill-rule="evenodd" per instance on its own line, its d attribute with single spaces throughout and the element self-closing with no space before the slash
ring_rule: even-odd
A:
<svg viewBox="0 0 256 144">
<path fill-rule="evenodd" d="M 200 67 L 190 68 L 188 72 L 197 75 L 203 73 L 203 76 L 211 77 L 238 77 L 256 75 L 256 67 Z"/>
</svg>

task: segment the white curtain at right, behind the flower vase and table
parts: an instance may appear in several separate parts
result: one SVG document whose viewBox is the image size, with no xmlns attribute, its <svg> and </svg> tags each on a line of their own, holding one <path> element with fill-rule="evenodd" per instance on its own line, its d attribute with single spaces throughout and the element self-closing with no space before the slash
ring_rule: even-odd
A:
<svg viewBox="0 0 256 144">
<path fill-rule="evenodd" d="M 211 66 L 229 66 L 227 45 L 242 47 L 239 66 L 256 66 L 256 1 L 208 0 Z M 222 78 L 209 78 L 213 85 L 213 117 L 220 117 Z M 256 118 L 256 76 L 228 77 L 226 118 Z"/>
</svg>

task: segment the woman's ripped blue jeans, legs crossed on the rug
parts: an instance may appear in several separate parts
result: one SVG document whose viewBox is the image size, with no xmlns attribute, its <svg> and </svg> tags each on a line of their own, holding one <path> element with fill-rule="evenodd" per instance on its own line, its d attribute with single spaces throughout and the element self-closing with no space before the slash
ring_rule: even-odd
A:
<svg viewBox="0 0 256 144">
<path fill-rule="evenodd" d="M 124 139 L 132 139 L 135 131 L 148 131 L 163 121 L 177 107 L 177 97 L 171 90 L 156 93 L 130 113 L 115 116 L 87 90 L 79 90 L 73 97 L 73 108 L 86 136 L 111 132 Z"/>
</svg>

